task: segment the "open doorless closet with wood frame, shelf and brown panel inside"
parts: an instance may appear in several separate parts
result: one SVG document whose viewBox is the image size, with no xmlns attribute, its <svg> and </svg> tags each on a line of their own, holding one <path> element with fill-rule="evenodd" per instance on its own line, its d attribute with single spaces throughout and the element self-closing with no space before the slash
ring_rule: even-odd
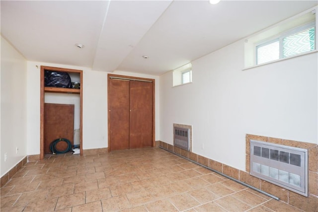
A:
<svg viewBox="0 0 318 212">
<path fill-rule="evenodd" d="M 40 159 L 50 152 L 49 144 L 60 137 L 79 145 L 82 155 L 82 71 L 47 66 L 41 66 L 40 71 Z M 45 73 L 52 72 L 68 73 L 75 86 L 45 86 Z M 63 145 L 59 142 L 60 148 Z"/>
</svg>

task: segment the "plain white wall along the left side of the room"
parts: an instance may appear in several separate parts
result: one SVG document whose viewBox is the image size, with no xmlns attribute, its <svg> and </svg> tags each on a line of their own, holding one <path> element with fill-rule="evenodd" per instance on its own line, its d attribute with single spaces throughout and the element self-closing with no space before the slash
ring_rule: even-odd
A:
<svg viewBox="0 0 318 212">
<path fill-rule="evenodd" d="M 2 177 L 27 155 L 26 60 L 2 37 L 0 75 L 0 175 Z M 7 153 L 6 161 L 4 161 L 5 153 Z"/>
</svg>

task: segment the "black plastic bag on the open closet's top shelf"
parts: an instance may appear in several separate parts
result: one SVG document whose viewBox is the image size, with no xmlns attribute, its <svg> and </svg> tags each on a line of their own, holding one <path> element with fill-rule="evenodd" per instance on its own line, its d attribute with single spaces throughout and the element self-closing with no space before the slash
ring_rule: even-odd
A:
<svg viewBox="0 0 318 212">
<path fill-rule="evenodd" d="M 44 83 L 46 87 L 72 88 L 71 77 L 67 72 L 45 71 Z"/>
</svg>

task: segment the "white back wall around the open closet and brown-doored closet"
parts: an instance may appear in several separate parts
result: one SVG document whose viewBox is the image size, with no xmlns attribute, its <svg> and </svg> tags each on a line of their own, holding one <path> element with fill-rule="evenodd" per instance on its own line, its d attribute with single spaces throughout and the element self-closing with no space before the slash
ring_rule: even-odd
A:
<svg viewBox="0 0 318 212">
<path fill-rule="evenodd" d="M 92 71 L 85 67 L 48 64 L 41 62 L 27 63 L 27 154 L 40 153 L 40 67 L 51 66 L 83 70 L 83 149 L 108 147 L 107 116 L 107 74 L 103 71 Z M 149 75 L 126 73 L 117 74 L 155 78 Z M 58 96 L 64 96 L 63 100 Z M 159 107 L 159 84 L 156 85 L 156 107 Z M 76 96 L 68 94 L 46 94 L 45 101 L 54 103 L 57 99 L 63 104 L 77 104 Z M 158 110 L 159 111 L 159 110 Z M 75 111 L 76 112 L 76 111 Z M 77 120 L 77 117 L 75 117 Z M 159 113 L 156 112 L 156 138 L 159 140 Z M 78 122 L 75 121 L 75 126 Z"/>
</svg>

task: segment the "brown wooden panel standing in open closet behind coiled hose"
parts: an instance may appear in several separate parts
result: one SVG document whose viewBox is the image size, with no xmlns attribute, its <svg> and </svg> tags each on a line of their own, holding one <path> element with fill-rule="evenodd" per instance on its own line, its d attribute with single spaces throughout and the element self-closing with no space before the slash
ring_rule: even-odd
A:
<svg viewBox="0 0 318 212">
<path fill-rule="evenodd" d="M 50 143 L 64 138 L 74 143 L 74 105 L 44 104 L 44 153 L 52 153 Z M 67 148 L 66 142 L 59 142 L 58 150 Z"/>
</svg>

